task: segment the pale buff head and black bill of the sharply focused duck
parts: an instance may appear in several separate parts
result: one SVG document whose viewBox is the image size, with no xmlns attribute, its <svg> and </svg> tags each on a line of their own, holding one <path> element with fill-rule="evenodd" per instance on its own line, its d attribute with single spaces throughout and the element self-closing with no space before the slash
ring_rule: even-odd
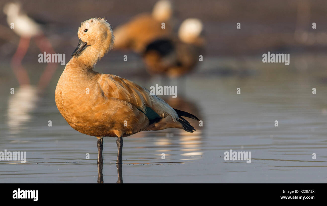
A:
<svg viewBox="0 0 327 206">
<path fill-rule="evenodd" d="M 77 35 L 79 42 L 72 56 L 87 67 L 93 67 L 113 47 L 112 29 L 104 18 L 82 22 Z"/>
</svg>

